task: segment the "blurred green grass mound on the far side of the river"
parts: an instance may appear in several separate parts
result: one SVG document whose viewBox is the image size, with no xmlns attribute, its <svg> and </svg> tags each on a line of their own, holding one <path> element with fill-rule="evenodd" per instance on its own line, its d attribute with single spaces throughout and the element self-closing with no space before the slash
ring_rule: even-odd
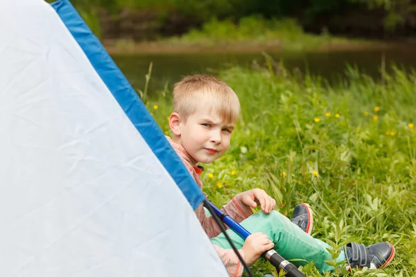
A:
<svg viewBox="0 0 416 277">
<path fill-rule="evenodd" d="M 295 19 L 264 19 L 261 16 L 243 17 L 237 23 L 231 20 L 211 19 L 201 29 L 193 29 L 180 37 L 162 39 L 171 44 L 217 46 L 230 44 L 279 46 L 282 50 L 300 51 L 329 44 L 358 44 L 358 40 L 332 37 L 324 30 L 322 35 L 304 33 Z"/>
</svg>

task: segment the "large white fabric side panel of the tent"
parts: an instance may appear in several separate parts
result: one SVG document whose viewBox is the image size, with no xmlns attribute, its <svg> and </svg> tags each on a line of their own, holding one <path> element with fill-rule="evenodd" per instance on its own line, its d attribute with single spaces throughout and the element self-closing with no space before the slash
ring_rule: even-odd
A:
<svg viewBox="0 0 416 277">
<path fill-rule="evenodd" d="M 97 57 L 99 73 L 43 0 L 1 4 L 0 276 L 227 276 L 118 69 Z"/>
</svg>

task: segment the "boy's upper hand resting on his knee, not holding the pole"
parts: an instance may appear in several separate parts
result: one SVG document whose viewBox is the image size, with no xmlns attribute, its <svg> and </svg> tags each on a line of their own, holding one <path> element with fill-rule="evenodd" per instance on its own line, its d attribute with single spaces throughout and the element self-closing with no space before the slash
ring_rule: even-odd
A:
<svg viewBox="0 0 416 277">
<path fill-rule="evenodd" d="M 261 211 L 264 213 L 270 213 L 276 206 L 276 200 L 272 199 L 264 190 L 260 188 L 254 188 L 247 190 L 237 195 L 239 200 L 243 202 L 245 206 L 256 208 L 260 204 Z"/>
</svg>

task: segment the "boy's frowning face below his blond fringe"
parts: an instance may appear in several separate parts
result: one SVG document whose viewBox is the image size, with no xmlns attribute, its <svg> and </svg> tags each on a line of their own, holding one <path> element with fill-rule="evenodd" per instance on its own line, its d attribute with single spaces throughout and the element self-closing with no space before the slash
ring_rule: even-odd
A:
<svg viewBox="0 0 416 277">
<path fill-rule="evenodd" d="M 178 142 L 197 162 L 211 163 L 229 148 L 235 123 L 225 123 L 218 111 L 198 105 L 194 114 L 180 120 Z"/>
</svg>

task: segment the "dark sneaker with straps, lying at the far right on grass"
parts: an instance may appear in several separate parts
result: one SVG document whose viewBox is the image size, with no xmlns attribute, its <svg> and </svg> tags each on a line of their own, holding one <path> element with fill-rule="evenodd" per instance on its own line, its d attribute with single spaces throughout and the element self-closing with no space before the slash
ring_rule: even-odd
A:
<svg viewBox="0 0 416 277">
<path fill-rule="evenodd" d="M 347 269 L 351 267 L 383 268 L 393 260 L 395 252 L 395 247 L 390 242 L 379 242 L 369 247 L 351 242 L 345 246 L 349 263 Z"/>
</svg>

